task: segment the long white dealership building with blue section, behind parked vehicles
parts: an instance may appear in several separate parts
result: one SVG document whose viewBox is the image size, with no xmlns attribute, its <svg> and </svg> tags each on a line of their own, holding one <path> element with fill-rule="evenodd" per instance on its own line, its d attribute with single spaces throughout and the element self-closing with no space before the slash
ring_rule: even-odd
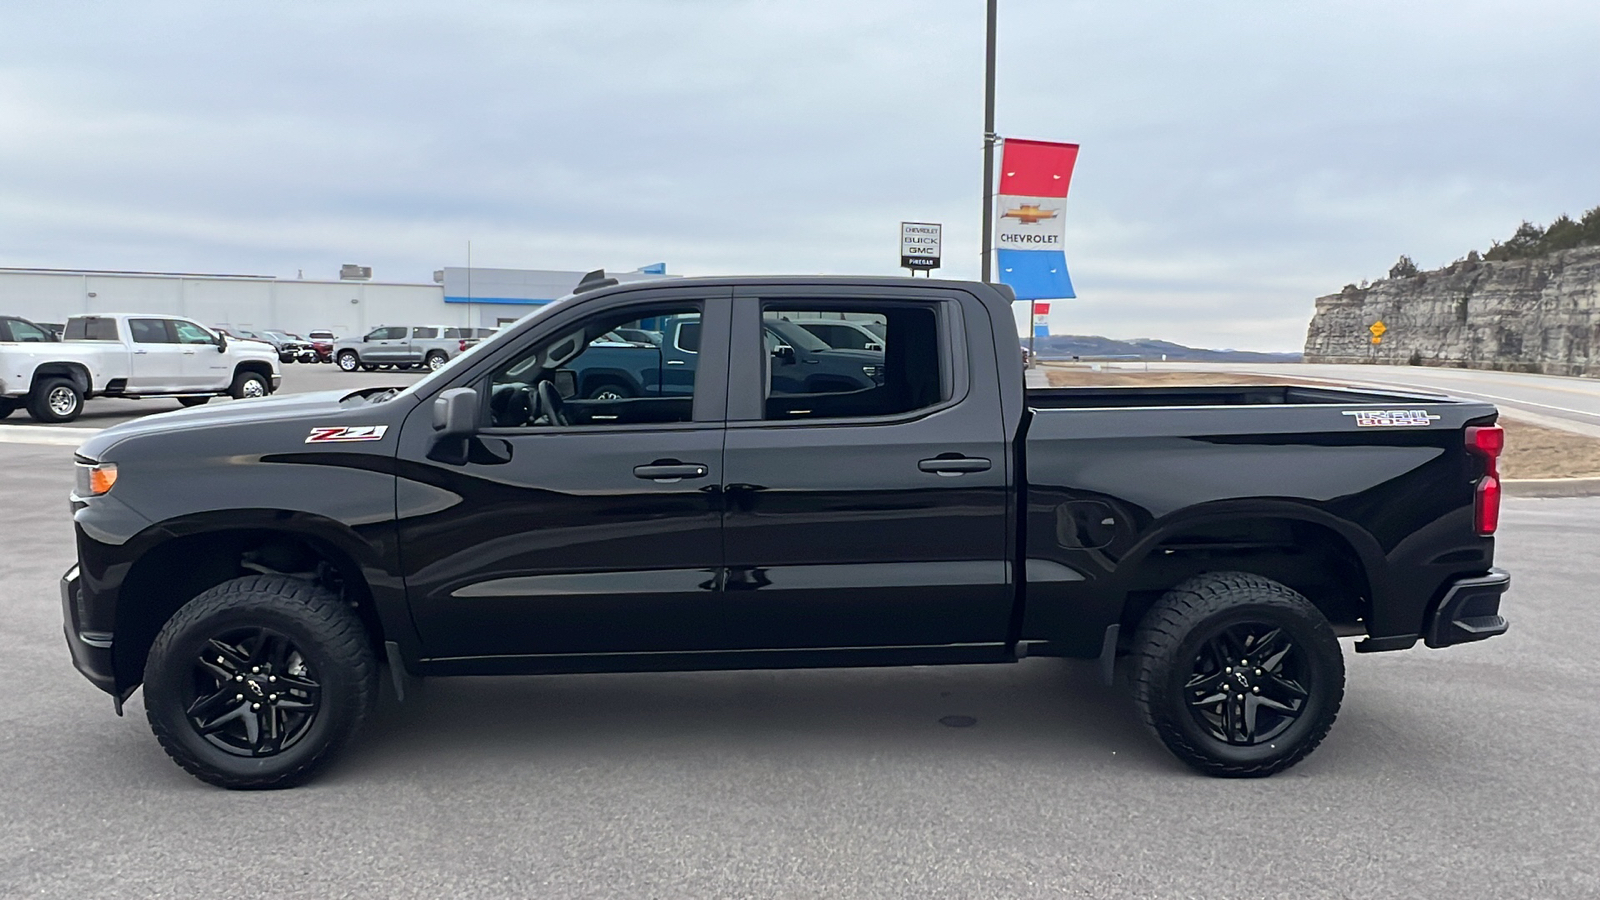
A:
<svg viewBox="0 0 1600 900">
<path fill-rule="evenodd" d="M 664 264 L 606 272 L 667 277 Z M 504 325 L 573 291 L 581 271 L 445 267 L 426 283 L 381 282 L 346 266 L 338 280 L 195 272 L 0 267 L 0 314 L 66 322 L 86 312 L 184 315 L 203 325 L 365 335 L 378 325 Z"/>
</svg>

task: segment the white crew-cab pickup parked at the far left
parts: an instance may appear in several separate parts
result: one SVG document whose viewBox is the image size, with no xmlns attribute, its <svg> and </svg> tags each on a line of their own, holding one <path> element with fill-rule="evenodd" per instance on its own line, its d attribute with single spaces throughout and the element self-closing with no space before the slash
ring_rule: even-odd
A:
<svg viewBox="0 0 1600 900">
<path fill-rule="evenodd" d="M 0 322 L 8 323 L 0 330 L 0 418 L 26 408 L 38 421 L 66 423 L 91 397 L 176 397 L 197 407 L 224 394 L 266 397 L 282 380 L 269 344 L 229 341 L 178 315 L 74 315 L 59 341 L 34 338 L 38 328 L 24 319 Z"/>
</svg>

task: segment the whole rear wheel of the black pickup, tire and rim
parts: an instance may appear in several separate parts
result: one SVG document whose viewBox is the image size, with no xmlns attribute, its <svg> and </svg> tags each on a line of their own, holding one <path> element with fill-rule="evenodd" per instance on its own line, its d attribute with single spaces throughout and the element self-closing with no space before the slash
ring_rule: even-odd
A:
<svg viewBox="0 0 1600 900">
<path fill-rule="evenodd" d="M 1294 765 L 1333 727 L 1344 657 L 1306 597 L 1259 575 L 1197 575 L 1150 607 L 1133 649 L 1133 697 L 1174 756 L 1206 775 Z"/>
</svg>

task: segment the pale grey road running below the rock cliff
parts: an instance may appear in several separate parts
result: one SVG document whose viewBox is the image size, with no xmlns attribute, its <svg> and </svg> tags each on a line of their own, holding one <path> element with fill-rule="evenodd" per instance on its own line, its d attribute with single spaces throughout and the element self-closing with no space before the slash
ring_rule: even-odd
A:
<svg viewBox="0 0 1600 900">
<path fill-rule="evenodd" d="M 1144 368 L 1142 364 L 1106 364 Z M 1149 364 L 1150 372 L 1242 372 L 1266 376 L 1320 378 L 1354 384 L 1390 384 L 1490 400 L 1517 418 L 1600 437 L 1600 378 L 1522 375 L 1474 368 L 1418 365 L 1317 364 Z"/>
</svg>

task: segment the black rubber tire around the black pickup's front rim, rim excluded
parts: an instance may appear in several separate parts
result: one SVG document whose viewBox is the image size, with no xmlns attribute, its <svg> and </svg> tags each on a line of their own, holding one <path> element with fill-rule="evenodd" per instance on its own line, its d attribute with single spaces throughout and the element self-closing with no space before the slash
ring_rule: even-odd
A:
<svg viewBox="0 0 1600 900">
<path fill-rule="evenodd" d="M 302 740 L 272 756 L 235 756 L 206 741 L 186 711 L 186 679 L 208 639 L 270 628 L 317 674 L 320 708 Z M 150 645 L 144 708 L 162 749 L 202 781 L 230 790 L 290 788 L 338 754 L 378 701 L 378 660 L 360 618 L 333 591 L 286 575 L 246 575 L 184 604 Z"/>
</svg>

